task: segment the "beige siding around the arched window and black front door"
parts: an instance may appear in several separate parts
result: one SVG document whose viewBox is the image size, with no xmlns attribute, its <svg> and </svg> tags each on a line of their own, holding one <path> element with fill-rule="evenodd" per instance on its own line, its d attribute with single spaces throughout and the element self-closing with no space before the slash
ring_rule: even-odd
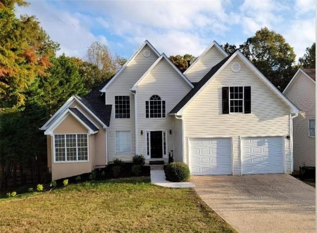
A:
<svg viewBox="0 0 317 233">
<path fill-rule="evenodd" d="M 136 93 L 139 154 L 146 154 L 146 134 L 141 135 L 141 130 L 144 132 L 167 131 L 167 151 L 173 150 L 174 117 L 167 114 L 190 90 L 191 87 L 188 83 L 164 59 L 161 59 L 157 66 L 138 85 Z M 146 118 L 145 101 L 149 100 L 154 94 L 159 95 L 161 100 L 165 100 L 165 118 Z M 172 130 L 172 135 L 169 134 L 169 130 Z"/>
</svg>

